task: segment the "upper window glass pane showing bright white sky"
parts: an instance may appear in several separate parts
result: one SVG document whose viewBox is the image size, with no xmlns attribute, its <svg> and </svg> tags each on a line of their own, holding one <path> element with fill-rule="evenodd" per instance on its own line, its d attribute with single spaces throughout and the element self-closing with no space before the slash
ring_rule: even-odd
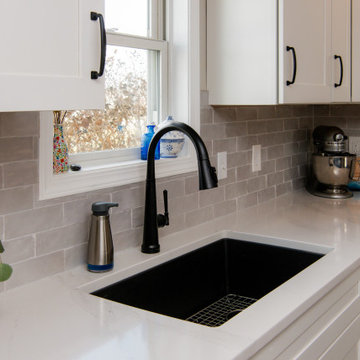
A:
<svg viewBox="0 0 360 360">
<path fill-rule="evenodd" d="M 150 36 L 149 0 L 105 0 L 106 30 Z"/>
</svg>

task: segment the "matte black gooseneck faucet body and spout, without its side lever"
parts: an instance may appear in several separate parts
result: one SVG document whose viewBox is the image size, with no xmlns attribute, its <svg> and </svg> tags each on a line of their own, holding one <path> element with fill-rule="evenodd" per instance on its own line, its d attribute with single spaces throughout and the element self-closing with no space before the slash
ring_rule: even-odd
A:
<svg viewBox="0 0 360 360">
<path fill-rule="evenodd" d="M 195 146 L 199 169 L 199 189 L 205 190 L 217 187 L 216 170 L 210 164 L 206 146 L 199 134 L 189 125 L 177 121 L 166 123 L 160 127 L 151 140 L 147 156 L 144 234 L 141 246 L 141 251 L 147 254 L 160 251 L 158 227 L 162 226 L 162 224 L 158 223 L 156 209 L 155 149 L 161 137 L 173 130 L 183 132 Z"/>
</svg>

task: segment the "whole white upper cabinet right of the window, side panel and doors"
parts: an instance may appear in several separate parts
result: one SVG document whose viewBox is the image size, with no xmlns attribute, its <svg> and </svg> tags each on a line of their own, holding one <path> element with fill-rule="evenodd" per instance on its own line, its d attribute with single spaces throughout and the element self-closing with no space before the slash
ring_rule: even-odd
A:
<svg viewBox="0 0 360 360">
<path fill-rule="evenodd" d="M 210 104 L 350 101 L 350 2 L 208 0 Z"/>
</svg>

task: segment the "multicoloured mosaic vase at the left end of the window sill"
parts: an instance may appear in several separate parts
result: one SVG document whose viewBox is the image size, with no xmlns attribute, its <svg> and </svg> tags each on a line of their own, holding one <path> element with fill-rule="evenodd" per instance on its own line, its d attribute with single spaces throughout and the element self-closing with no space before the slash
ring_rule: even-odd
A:
<svg viewBox="0 0 360 360">
<path fill-rule="evenodd" d="M 60 174 L 69 171 L 69 153 L 64 140 L 63 122 L 66 111 L 54 113 L 54 141 L 53 141 L 53 172 Z"/>
</svg>

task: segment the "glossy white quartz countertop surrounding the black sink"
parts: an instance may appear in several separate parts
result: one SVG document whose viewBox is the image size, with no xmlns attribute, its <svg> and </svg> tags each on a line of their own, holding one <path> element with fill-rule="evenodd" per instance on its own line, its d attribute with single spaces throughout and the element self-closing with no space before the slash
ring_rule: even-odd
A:
<svg viewBox="0 0 360 360">
<path fill-rule="evenodd" d="M 248 359 L 360 266 L 359 199 L 298 191 L 160 238 L 159 254 L 116 253 L 109 273 L 82 266 L 1 293 L 0 359 Z M 89 295 L 222 237 L 327 255 L 217 328 Z"/>
</svg>

